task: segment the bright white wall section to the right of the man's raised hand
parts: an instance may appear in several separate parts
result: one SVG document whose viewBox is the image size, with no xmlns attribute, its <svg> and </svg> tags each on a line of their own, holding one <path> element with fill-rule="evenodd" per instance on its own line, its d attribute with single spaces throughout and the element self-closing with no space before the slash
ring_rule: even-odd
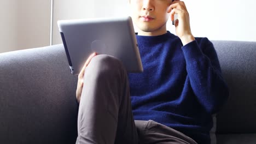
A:
<svg viewBox="0 0 256 144">
<path fill-rule="evenodd" d="M 195 36 L 212 40 L 256 41 L 256 1 L 184 0 Z"/>
</svg>

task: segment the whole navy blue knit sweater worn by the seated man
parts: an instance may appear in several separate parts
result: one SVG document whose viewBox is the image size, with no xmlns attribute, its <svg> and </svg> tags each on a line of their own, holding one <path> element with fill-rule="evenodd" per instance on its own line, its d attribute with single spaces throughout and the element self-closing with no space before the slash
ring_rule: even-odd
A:
<svg viewBox="0 0 256 144">
<path fill-rule="evenodd" d="M 183 46 L 170 32 L 136 37 L 144 71 L 129 74 L 134 119 L 152 119 L 210 143 L 212 114 L 229 95 L 211 41 L 196 38 Z"/>
</svg>

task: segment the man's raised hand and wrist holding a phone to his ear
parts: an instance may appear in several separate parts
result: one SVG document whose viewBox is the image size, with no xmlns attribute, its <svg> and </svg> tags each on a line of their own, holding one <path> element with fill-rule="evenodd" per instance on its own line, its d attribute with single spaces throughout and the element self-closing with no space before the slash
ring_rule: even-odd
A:
<svg viewBox="0 0 256 144">
<path fill-rule="evenodd" d="M 181 39 L 183 45 L 195 40 L 191 33 L 189 13 L 184 2 L 179 0 L 173 1 L 167 9 L 167 13 L 171 13 L 172 21 L 174 21 L 174 15 L 177 15 L 177 20 L 174 25 L 176 27 L 176 34 Z"/>
</svg>

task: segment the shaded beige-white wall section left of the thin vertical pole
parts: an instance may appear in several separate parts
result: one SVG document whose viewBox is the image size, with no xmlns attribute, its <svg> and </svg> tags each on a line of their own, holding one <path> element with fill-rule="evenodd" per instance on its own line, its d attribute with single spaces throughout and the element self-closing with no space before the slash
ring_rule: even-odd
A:
<svg viewBox="0 0 256 144">
<path fill-rule="evenodd" d="M 50 45 L 50 0 L 0 0 L 0 53 Z"/>
</svg>

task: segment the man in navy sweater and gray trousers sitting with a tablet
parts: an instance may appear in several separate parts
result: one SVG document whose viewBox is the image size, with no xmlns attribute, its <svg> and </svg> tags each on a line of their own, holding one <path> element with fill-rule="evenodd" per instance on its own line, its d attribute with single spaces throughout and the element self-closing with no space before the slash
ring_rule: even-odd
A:
<svg viewBox="0 0 256 144">
<path fill-rule="evenodd" d="M 77 143 L 210 143 L 211 115 L 229 94 L 212 43 L 193 36 L 182 1 L 130 6 L 144 72 L 92 53 L 78 76 Z M 177 36 L 166 31 L 174 14 Z"/>
</svg>

